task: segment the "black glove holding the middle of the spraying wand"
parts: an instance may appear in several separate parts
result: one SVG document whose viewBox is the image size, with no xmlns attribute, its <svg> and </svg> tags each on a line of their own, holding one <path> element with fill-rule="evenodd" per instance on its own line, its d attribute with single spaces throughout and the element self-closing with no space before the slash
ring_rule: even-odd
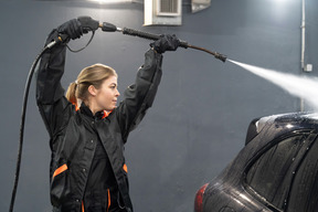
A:
<svg viewBox="0 0 318 212">
<path fill-rule="evenodd" d="M 176 51 L 179 45 L 180 41 L 174 34 L 161 34 L 159 40 L 150 43 L 150 46 L 160 54 L 166 51 Z"/>
</svg>

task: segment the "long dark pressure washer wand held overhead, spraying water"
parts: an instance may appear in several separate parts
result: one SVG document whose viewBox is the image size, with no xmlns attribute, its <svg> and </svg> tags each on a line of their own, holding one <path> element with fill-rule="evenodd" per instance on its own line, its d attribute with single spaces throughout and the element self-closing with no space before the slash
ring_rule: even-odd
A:
<svg viewBox="0 0 318 212">
<path fill-rule="evenodd" d="M 128 34 L 128 35 L 132 35 L 132 36 L 139 36 L 139 38 L 142 38 L 142 39 L 148 39 L 148 40 L 152 40 L 152 41 L 157 41 L 157 40 L 160 39 L 159 34 L 152 34 L 152 33 L 148 33 L 148 32 L 132 30 L 132 29 L 129 29 L 129 28 L 121 29 L 121 28 L 117 28 L 116 25 L 114 25 L 112 23 L 107 23 L 107 22 L 103 22 L 102 24 L 99 24 L 99 28 L 102 28 L 102 31 L 104 31 L 104 32 L 116 32 L 117 31 L 117 32 L 121 32 L 123 34 Z M 224 63 L 226 61 L 226 56 L 223 55 L 223 54 L 220 54 L 218 52 L 212 52 L 212 51 L 206 50 L 204 47 L 199 47 L 199 46 L 195 46 L 195 45 L 191 45 L 188 42 L 182 41 L 182 40 L 180 40 L 180 46 L 184 47 L 184 49 L 191 47 L 191 49 L 194 49 L 194 50 L 200 50 L 200 51 L 206 52 L 209 54 L 212 54 L 215 59 L 219 59 L 220 61 L 223 61 Z"/>
</svg>

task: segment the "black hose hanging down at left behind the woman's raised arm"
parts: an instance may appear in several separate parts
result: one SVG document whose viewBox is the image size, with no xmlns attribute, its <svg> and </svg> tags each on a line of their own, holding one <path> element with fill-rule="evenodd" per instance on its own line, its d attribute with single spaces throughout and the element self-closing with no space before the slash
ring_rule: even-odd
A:
<svg viewBox="0 0 318 212">
<path fill-rule="evenodd" d="M 18 150 L 18 159 L 17 159 L 17 168 L 15 168 L 15 178 L 14 178 L 14 184 L 13 184 L 13 190 L 12 190 L 12 197 L 11 197 L 11 203 L 10 203 L 10 209 L 9 212 L 13 211 L 14 206 L 14 200 L 15 200 L 15 194 L 17 194 L 17 189 L 18 189 L 18 182 L 19 182 L 19 174 L 20 174 L 20 167 L 21 167 L 21 158 L 22 158 L 22 147 L 23 147 L 23 134 L 24 134 L 24 123 L 25 123 L 25 112 L 26 112 L 26 105 L 28 105 L 28 96 L 29 96 L 29 91 L 30 91 L 30 85 L 31 85 L 31 80 L 34 74 L 36 64 L 39 63 L 41 56 L 53 45 L 55 45 L 56 42 L 52 42 L 49 45 L 46 45 L 41 53 L 36 56 L 35 61 L 33 62 L 28 78 L 25 83 L 25 88 L 24 88 L 24 95 L 23 95 L 23 104 L 22 104 L 22 115 L 21 115 L 21 124 L 20 124 L 20 142 L 19 142 L 19 150 Z"/>
</svg>

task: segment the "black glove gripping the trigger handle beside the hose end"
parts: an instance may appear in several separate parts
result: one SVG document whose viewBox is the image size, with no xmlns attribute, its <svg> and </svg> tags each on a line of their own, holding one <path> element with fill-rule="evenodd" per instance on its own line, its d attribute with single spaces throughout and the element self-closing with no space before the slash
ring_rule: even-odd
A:
<svg viewBox="0 0 318 212">
<path fill-rule="evenodd" d="M 80 39 L 83 35 L 82 24 L 77 19 L 72 19 L 57 28 L 57 32 L 68 35 L 70 39 Z"/>
</svg>

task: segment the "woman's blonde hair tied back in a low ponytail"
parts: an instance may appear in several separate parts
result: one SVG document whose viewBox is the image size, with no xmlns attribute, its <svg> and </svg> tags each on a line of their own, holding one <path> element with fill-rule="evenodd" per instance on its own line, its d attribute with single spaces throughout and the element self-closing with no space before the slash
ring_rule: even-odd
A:
<svg viewBox="0 0 318 212">
<path fill-rule="evenodd" d="M 107 65 L 97 63 L 85 67 L 78 74 L 77 80 L 70 84 L 65 96 L 72 104 L 78 107 L 77 99 L 87 100 L 88 87 L 91 85 L 94 85 L 98 89 L 103 82 L 110 76 L 117 77 L 117 73 Z"/>
</svg>

